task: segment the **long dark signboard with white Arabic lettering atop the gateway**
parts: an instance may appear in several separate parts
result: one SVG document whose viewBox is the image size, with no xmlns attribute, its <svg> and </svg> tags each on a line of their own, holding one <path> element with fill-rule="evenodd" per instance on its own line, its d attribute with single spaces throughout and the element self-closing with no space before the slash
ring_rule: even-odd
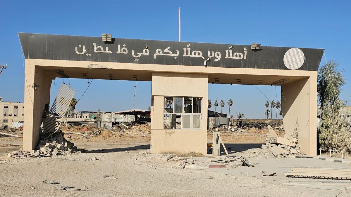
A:
<svg viewBox="0 0 351 197">
<path fill-rule="evenodd" d="M 19 33 L 26 59 L 318 70 L 324 49 Z"/>
</svg>

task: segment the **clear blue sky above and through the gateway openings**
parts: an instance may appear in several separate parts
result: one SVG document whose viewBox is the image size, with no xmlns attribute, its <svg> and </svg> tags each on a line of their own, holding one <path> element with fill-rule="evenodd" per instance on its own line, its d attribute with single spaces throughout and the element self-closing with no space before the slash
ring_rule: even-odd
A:
<svg viewBox="0 0 351 197">
<path fill-rule="evenodd" d="M 350 79 L 351 1 L 2 1 L 0 63 L 8 67 L 0 76 L 0 97 L 24 101 L 24 59 L 18 32 L 82 36 L 111 33 L 114 38 L 177 41 L 178 7 L 181 41 L 324 48 L 326 59 L 337 60 L 340 69 L 345 69 L 344 77 Z M 324 57 L 321 63 L 325 63 Z M 52 99 L 62 81 L 57 78 L 56 86 L 52 84 Z M 77 99 L 88 86 L 83 79 L 70 79 L 69 83 L 77 90 Z M 134 85 L 133 81 L 94 80 L 76 109 L 131 109 Z M 212 103 L 215 99 L 234 101 L 231 114 L 240 111 L 247 118 L 265 118 L 267 99 L 256 87 L 208 87 Z M 279 86 L 257 87 L 270 100 L 280 100 Z M 340 99 L 350 100 L 350 89 L 351 82 L 347 81 Z M 138 81 L 135 107 L 146 109 L 150 104 L 151 82 Z M 223 112 L 228 112 L 227 105 Z M 273 110 L 273 118 L 275 113 Z"/>
</svg>

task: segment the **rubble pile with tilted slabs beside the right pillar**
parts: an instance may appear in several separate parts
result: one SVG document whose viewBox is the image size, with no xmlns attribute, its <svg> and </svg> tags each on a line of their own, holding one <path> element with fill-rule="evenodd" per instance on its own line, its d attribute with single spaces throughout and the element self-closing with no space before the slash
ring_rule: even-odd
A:
<svg viewBox="0 0 351 197">
<path fill-rule="evenodd" d="M 301 154 L 301 146 L 296 137 L 278 137 L 270 125 L 268 125 L 268 129 L 266 144 L 262 144 L 261 148 L 247 150 L 248 156 L 285 157 L 292 154 Z"/>
</svg>

